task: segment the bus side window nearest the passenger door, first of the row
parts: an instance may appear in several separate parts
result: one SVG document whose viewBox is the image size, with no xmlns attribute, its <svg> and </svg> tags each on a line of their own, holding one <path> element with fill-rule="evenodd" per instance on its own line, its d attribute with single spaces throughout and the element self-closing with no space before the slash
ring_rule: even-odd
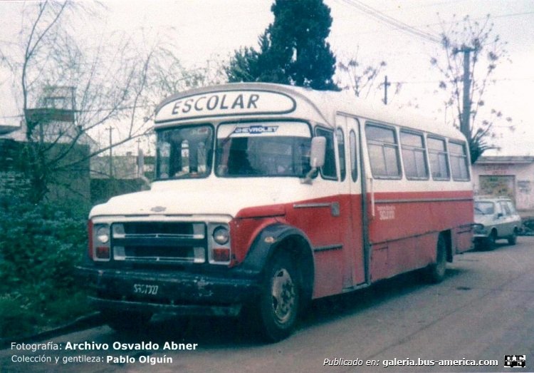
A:
<svg viewBox="0 0 534 373">
<path fill-rule="evenodd" d="M 365 136 L 372 175 L 375 178 L 401 178 L 399 144 L 395 130 L 368 124 L 365 126 Z"/>
</svg>

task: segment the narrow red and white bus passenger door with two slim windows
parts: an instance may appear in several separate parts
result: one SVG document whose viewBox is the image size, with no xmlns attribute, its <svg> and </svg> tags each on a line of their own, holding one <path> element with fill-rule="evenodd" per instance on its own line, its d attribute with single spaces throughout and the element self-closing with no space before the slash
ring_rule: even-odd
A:
<svg viewBox="0 0 534 373">
<path fill-rule="evenodd" d="M 343 213 L 343 228 L 345 229 L 342 231 L 343 251 L 345 252 L 343 287 L 349 289 L 365 283 L 367 268 L 362 212 L 360 125 L 356 118 L 337 115 L 336 126 L 342 179 L 340 194 L 344 200 L 343 205 L 347 208 L 347 211 Z"/>
</svg>

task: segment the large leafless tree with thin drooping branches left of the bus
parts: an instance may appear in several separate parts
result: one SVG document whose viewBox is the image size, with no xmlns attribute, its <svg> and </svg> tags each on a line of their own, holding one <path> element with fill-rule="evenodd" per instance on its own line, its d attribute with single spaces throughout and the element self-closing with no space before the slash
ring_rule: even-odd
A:
<svg viewBox="0 0 534 373">
<path fill-rule="evenodd" d="M 87 168 L 89 158 L 150 131 L 163 96 L 204 82 L 203 71 L 183 68 L 172 46 L 139 46 L 135 36 L 123 32 L 80 39 L 73 19 L 94 19 L 101 9 L 95 6 L 70 0 L 31 3 L 23 12 L 19 42 L 0 58 L 17 76 L 34 202 L 46 198 L 49 185 L 66 183 L 55 175 Z M 62 89 L 70 95 L 58 97 Z M 112 142 L 90 140 L 110 127 L 116 130 Z M 80 145 L 88 143 L 81 151 Z"/>
</svg>

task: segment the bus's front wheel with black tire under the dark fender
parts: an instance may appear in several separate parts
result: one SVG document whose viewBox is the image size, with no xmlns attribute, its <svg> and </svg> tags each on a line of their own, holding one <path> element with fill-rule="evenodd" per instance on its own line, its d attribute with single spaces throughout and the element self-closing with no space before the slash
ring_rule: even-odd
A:
<svg viewBox="0 0 534 373">
<path fill-rule="evenodd" d="M 295 328 L 300 305 L 300 285 L 287 253 L 276 253 L 266 267 L 257 317 L 264 339 L 278 342 Z"/>
</svg>

